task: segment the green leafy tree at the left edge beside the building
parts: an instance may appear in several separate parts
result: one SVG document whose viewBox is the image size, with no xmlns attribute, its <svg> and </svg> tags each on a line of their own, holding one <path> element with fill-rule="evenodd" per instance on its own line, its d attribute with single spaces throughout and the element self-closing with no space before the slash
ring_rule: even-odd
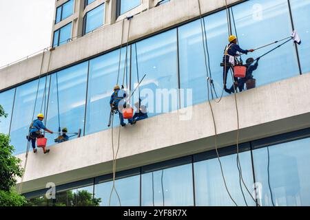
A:
<svg viewBox="0 0 310 220">
<path fill-rule="evenodd" d="M 0 118 L 7 117 L 0 105 Z M 10 145 L 10 137 L 0 133 L 0 206 L 22 206 L 25 197 L 15 190 L 16 177 L 23 175 L 19 166 L 21 159 L 13 156 L 14 146 Z"/>
</svg>

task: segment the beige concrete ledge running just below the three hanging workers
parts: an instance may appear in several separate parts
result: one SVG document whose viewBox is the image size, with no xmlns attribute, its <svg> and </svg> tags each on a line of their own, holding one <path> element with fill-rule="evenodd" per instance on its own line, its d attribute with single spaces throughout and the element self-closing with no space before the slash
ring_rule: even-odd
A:
<svg viewBox="0 0 310 220">
<path fill-rule="evenodd" d="M 310 127 L 310 74 L 251 89 L 237 95 L 240 142 Z M 236 144 L 234 96 L 214 107 L 219 147 Z M 184 111 L 191 120 L 179 120 Z M 112 130 L 51 146 L 49 155 L 30 153 L 23 192 L 112 173 Z M 117 147 L 118 128 L 114 129 Z M 165 113 L 121 128 L 117 170 L 214 149 L 214 126 L 207 102 Z M 19 155 L 21 159 L 25 154 Z"/>
</svg>

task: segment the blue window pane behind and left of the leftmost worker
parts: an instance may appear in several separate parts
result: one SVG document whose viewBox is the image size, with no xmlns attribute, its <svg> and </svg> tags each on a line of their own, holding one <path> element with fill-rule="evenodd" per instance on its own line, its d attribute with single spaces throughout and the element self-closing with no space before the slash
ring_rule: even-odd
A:
<svg viewBox="0 0 310 220">
<path fill-rule="evenodd" d="M 47 80 L 47 82 L 45 81 Z M 39 80 L 34 80 L 17 87 L 16 97 L 14 102 L 14 111 L 12 113 L 11 125 L 11 144 L 16 149 L 15 153 L 24 153 L 27 146 L 26 135 L 28 135 L 29 126 L 32 123 L 32 115 L 34 112 L 34 119 L 37 118 L 39 113 L 44 113 L 47 106 L 48 85 L 50 83 L 50 76 L 41 78 L 39 84 L 39 92 L 36 102 L 36 94 Z M 45 93 L 45 83 L 47 84 L 47 92 Z"/>
</svg>

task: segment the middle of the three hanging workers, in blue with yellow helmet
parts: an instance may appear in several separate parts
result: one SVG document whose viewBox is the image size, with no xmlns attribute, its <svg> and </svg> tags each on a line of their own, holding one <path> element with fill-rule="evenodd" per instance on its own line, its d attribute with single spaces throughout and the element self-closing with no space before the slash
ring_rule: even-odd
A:
<svg viewBox="0 0 310 220">
<path fill-rule="evenodd" d="M 127 94 L 125 90 L 121 89 L 118 85 L 116 85 L 113 89 L 113 94 L 110 99 L 110 107 L 111 111 L 117 110 L 119 115 L 119 120 L 121 122 L 121 126 L 125 126 L 124 118 L 123 118 L 123 106 L 125 104 L 125 98 Z"/>
</svg>

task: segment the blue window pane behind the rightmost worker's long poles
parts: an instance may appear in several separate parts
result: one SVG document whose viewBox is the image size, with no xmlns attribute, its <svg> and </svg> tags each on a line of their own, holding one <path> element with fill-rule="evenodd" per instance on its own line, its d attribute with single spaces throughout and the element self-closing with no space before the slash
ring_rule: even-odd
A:
<svg viewBox="0 0 310 220">
<path fill-rule="evenodd" d="M 291 35 L 291 20 L 287 0 L 247 1 L 232 8 L 238 32 L 238 43 L 244 49 L 256 48 Z M 233 28 L 234 29 L 234 28 Z M 262 31 L 265 30 L 265 31 Z M 276 44 L 279 45 L 280 43 Z M 258 57 L 276 45 L 242 56 Z M 292 41 L 260 59 L 253 72 L 256 86 L 298 76 L 298 61 Z"/>
</svg>

